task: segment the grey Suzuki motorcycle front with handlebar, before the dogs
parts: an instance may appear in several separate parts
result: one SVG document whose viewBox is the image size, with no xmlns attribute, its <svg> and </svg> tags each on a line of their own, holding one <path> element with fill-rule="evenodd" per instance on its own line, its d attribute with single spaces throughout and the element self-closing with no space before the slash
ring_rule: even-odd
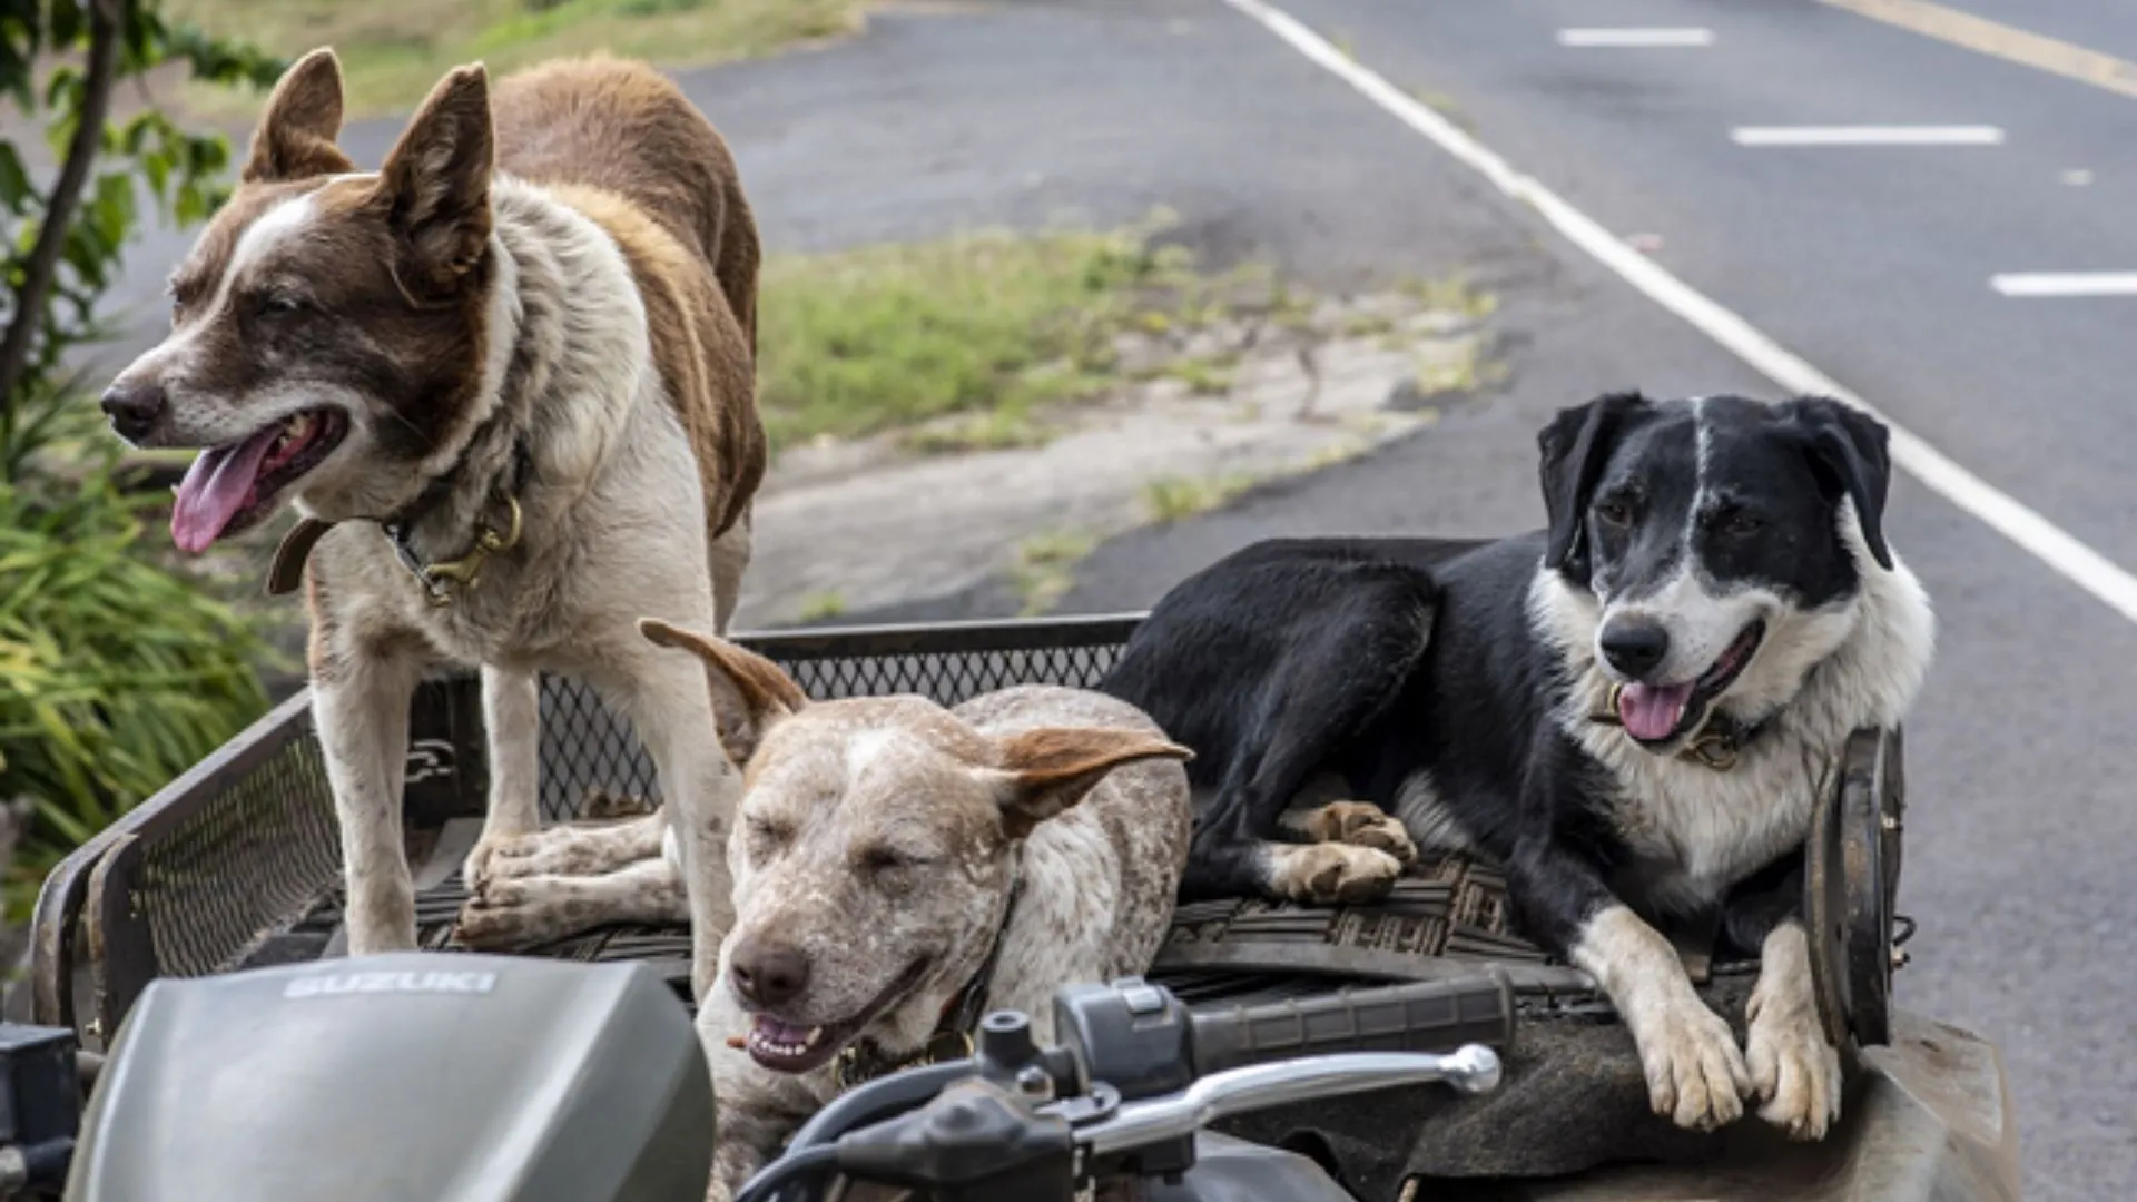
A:
<svg viewBox="0 0 2137 1202">
<path fill-rule="evenodd" d="M 1513 997 L 1472 977 L 1188 1010 L 1120 980 L 1062 988 L 1054 1024 L 1041 1048 L 1030 1016 L 994 1012 L 968 1059 L 844 1093 L 735 1202 L 857 1183 L 1348 1202 L 1310 1157 L 1205 1127 L 1425 1082 L 1487 1093 Z M 15 1101 L 64 1119 L 73 1082 L 34 1076 Z M 158 980 L 94 1078 L 79 1142 L 9 1149 L 36 1164 L 17 1196 L 64 1176 L 66 1202 L 701 1202 L 712 1174 L 705 1054 L 645 965 L 412 952 Z"/>
</svg>

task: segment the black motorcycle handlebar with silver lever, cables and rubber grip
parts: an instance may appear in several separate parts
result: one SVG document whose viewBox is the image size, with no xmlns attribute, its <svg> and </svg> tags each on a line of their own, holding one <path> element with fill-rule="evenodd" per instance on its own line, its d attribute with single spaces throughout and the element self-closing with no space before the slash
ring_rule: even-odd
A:
<svg viewBox="0 0 2137 1202">
<path fill-rule="evenodd" d="M 1246 1110 L 1425 1082 L 1485 1093 L 1513 1022 L 1513 986 L 1496 971 L 1201 1012 L 1135 977 L 1066 986 L 1054 1048 L 1028 1016 L 989 1014 L 970 1061 L 838 1099 L 737 1202 L 812 1198 L 804 1178 L 827 1170 L 955 1198 L 1004 1170 L 1062 1185 L 1073 1166 L 1107 1172 L 1116 1155 L 1137 1172 L 1137 1149 Z M 1098 1097 L 1111 1101 L 1090 1110 Z"/>
</svg>

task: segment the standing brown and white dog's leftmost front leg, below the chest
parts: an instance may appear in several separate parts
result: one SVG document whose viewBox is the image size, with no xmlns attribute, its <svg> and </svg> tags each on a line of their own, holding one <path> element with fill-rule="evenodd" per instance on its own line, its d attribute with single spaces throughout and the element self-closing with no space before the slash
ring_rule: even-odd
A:
<svg viewBox="0 0 2137 1202">
<path fill-rule="evenodd" d="M 348 954 L 415 947 L 415 879 L 402 843 L 408 702 L 419 663 L 389 650 L 314 654 L 312 721 L 342 826 Z"/>
</svg>

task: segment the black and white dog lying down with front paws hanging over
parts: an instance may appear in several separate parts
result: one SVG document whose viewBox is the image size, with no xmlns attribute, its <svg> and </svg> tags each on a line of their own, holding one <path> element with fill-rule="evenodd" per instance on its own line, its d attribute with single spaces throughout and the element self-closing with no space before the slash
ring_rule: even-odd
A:
<svg viewBox="0 0 2137 1202">
<path fill-rule="evenodd" d="M 1357 900 L 1415 845 L 1481 849 L 1611 997 L 1658 1114 L 1710 1129 L 1757 1095 L 1821 1138 L 1842 1082 L 1801 845 L 1934 644 L 1883 533 L 1887 430 L 1825 398 L 1624 394 L 1537 443 L 1545 530 L 1257 543 L 1152 610 L 1103 689 L 1197 753 L 1182 892 Z M 1701 915 L 1761 960 L 1744 1050 L 1654 926 Z"/>
</svg>

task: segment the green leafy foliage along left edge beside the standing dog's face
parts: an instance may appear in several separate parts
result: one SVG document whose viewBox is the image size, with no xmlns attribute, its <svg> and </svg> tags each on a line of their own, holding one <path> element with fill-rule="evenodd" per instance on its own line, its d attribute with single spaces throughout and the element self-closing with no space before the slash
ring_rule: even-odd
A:
<svg viewBox="0 0 2137 1202">
<path fill-rule="evenodd" d="M 222 201 L 231 148 L 115 94 L 162 66 L 265 88 L 282 64 L 173 26 L 154 0 L 0 0 L 0 96 L 47 145 L 0 137 L 0 800 L 28 796 L 26 870 L 109 823 L 265 708 L 261 639 L 141 539 L 81 351 L 147 199 Z M 19 913 L 19 905 L 11 905 Z"/>
</svg>

